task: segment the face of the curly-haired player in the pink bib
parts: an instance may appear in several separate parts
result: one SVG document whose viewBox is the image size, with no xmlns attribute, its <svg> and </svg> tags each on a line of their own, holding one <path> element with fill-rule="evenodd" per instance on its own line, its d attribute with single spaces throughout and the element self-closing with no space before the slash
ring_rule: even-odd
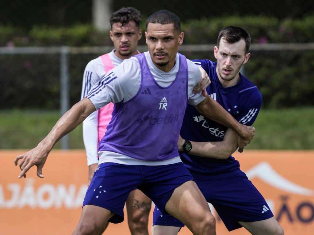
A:
<svg viewBox="0 0 314 235">
<path fill-rule="evenodd" d="M 110 30 L 110 38 L 115 46 L 115 54 L 124 60 L 137 54 L 138 40 L 142 37 L 142 30 L 136 27 L 134 21 L 123 25 L 113 23 Z"/>
</svg>

